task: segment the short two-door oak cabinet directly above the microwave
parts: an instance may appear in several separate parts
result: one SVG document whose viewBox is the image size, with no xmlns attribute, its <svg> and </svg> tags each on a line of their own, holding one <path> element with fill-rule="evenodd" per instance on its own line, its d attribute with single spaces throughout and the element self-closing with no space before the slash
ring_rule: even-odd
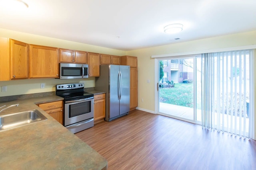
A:
<svg viewBox="0 0 256 170">
<path fill-rule="evenodd" d="M 60 49 L 60 63 L 87 64 L 87 52 Z"/>
</svg>

